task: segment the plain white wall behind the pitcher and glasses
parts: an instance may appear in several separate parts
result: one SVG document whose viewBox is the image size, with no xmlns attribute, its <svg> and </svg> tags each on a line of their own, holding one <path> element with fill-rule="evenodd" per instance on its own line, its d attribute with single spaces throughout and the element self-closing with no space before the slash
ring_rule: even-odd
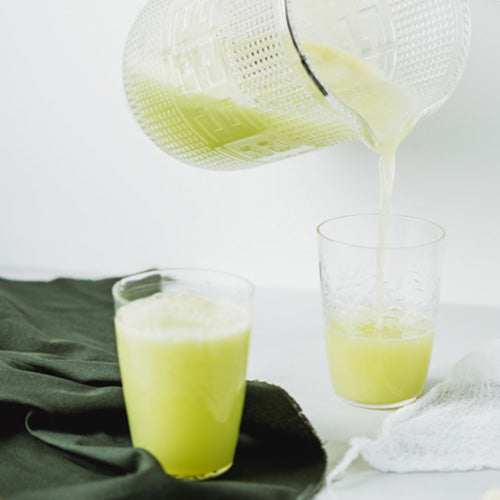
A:
<svg viewBox="0 0 500 500">
<path fill-rule="evenodd" d="M 458 90 L 398 156 L 395 212 L 447 229 L 442 300 L 500 305 L 500 2 L 471 0 Z M 251 170 L 187 167 L 136 125 L 121 83 L 143 0 L 0 3 L 0 271 L 196 266 L 317 289 L 315 227 L 375 211 L 360 143 Z"/>
</svg>

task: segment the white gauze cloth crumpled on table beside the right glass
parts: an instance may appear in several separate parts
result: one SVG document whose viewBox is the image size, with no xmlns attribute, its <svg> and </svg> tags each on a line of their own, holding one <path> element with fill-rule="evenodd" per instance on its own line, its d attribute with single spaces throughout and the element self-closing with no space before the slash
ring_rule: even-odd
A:
<svg viewBox="0 0 500 500">
<path fill-rule="evenodd" d="M 358 455 L 391 472 L 500 469 L 500 339 L 462 358 L 443 382 L 387 417 L 376 439 L 349 444 L 328 482 Z"/>
</svg>

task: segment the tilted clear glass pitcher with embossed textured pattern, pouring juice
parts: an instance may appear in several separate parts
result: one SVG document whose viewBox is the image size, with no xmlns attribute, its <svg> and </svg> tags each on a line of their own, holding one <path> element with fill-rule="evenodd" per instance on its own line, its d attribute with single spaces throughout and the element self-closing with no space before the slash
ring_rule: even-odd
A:
<svg viewBox="0 0 500 500">
<path fill-rule="evenodd" d="M 409 129 L 454 90 L 469 39 L 467 0 L 150 0 L 127 40 L 124 84 L 168 154 L 245 168 L 354 139 L 374 147 L 369 121 L 335 75 L 323 78 L 314 47 L 411 92 Z"/>
</svg>

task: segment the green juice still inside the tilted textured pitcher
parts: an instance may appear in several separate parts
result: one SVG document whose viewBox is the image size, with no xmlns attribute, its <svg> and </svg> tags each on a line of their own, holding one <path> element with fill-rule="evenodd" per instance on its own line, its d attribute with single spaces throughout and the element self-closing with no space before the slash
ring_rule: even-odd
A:
<svg viewBox="0 0 500 500">
<path fill-rule="evenodd" d="M 406 135 L 406 122 L 416 109 L 412 95 L 354 55 L 312 43 L 304 44 L 304 51 L 323 84 L 363 117 L 368 127 L 356 134 L 361 133 L 375 150 L 383 152 Z M 250 99 L 237 102 L 229 97 L 181 92 L 146 72 L 129 77 L 127 87 L 134 96 L 131 106 L 142 128 L 181 160 L 192 160 L 196 154 L 196 163 L 203 164 L 206 159 L 204 166 L 210 167 L 210 159 L 219 161 L 230 151 L 240 154 L 244 162 L 258 164 L 273 150 L 283 153 L 301 144 L 308 149 L 327 145 L 324 139 L 316 140 L 307 133 L 314 117 L 263 110 Z M 340 132 L 353 136 L 347 124 Z"/>
</svg>

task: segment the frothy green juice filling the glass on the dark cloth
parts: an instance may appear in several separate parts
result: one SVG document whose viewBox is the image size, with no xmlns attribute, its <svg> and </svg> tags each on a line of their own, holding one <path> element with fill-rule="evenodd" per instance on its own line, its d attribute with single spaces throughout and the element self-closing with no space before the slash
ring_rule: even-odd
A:
<svg viewBox="0 0 500 500">
<path fill-rule="evenodd" d="M 228 469 L 245 395 L 248 314 L 221 300 L 164 293 L 119 309 L 115 327 L 133 445 L 176 477 Z"/>
</svg>

